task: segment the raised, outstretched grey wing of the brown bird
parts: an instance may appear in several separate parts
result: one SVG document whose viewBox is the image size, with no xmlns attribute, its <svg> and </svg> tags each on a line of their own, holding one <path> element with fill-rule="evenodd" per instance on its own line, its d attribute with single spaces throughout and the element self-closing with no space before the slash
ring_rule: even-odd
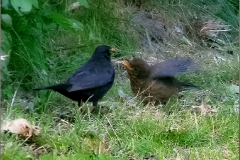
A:
<svg viewBox="0 0 240 160">
<path fill-rule="evenodd" d="M 195 72 L 199 70 L 199 65 L 191 58 L 176 57 L 157 63 L 150 68 L 151 78 L 175 77 L 178 74 Z"/>
</svg>

